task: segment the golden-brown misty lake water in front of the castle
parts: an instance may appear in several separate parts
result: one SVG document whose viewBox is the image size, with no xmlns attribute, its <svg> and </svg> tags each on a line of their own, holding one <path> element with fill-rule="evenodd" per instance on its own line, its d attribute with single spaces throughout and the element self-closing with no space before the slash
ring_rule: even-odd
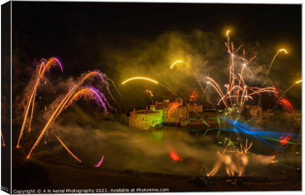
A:
<svg viewBox="0 0 305 195">
<path fill-rule="evenodd" d="M 90 104 L 81 106 L 86 107 Z M 191 132 L 189 128 L 170 126 L 154 131 L 141 131 L 127 126 L 126 115 L 104 116 L 98 120 L 92 117 L 96 113 L 87 111 L 86 108 L 76 106 L 63 113 L 48 131 L 46 139 L 41 141 L 32 158 L 39 160 L 40 157 L 50 156 L 62 162 L 78 164 L 55 138 L 54 135 L 57 135 L 82 163 L 89 167 L 94 167 L 104 155 L 100 166 L 102 169 L 205 176 L 219 161 L 217 152 L 222 153 L 224 150 L 224 144 L 218 143 L 216 132 L 213 131 L 206 136 L 203 136 L 204 129 Z M 227 136 L 230 136 L 230 133 L 222 132 L 220 137 Z M 25 148 L 34 140 L 32 138 L 30 141 L 29 137 L 26 139 L 30 144 L 25 144 Z M 268 157 L 273 155 L 273 148 L 266 148 L 267 152 L 265 151 L 264 155 L 258 155 L 256 153 L 259 150 L 256 146 L 260 143 L 249 138 L 249 143 L 250 141 L 253 141 L 255 147 L 248 151 L 249 162 L 244 167 L 243 176 L 265 176 L 265 168 L 274 166 L 271 163 L 274 159 Z M 181 159 L 174 161 L 170 152 L 176 153 Z M 232 156 L 232 159 L 236 155 L 225 154 Z M 225 164 L 221 165 L 216 175 L 227 175 L 225 167 Z"/>
</svg>

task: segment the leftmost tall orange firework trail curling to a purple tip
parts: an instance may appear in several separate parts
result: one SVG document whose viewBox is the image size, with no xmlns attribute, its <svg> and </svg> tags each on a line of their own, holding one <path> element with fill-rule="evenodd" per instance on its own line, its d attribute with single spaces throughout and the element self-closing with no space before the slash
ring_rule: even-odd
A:
<svg viewBox="0 0 305 195">
<path fill-rule="evenodd" d="M 20 134 L 19 134 L 19 138 L 18 138 L 18 142 L 17 142 L 17 148 L 20 147 L 20 140 L 23 136 L 23 132 L 24 132 L 24 129 L 25 129 L 25 126 L 26 126 L 26 122 L 27 122 L 27 119 L 28 119 L 28 115 L 29 115 L 29 111 L 30 111 L 30 104 L 32 104 L 31 106 L 31 115 L 30 115 L 30 124 L 31 124 L 31 120 L 32 120 L 32 116 L 33 116 L 33 110 L 34 110 L 34 103 L 35 103 L 35 96 L 36 96 L 36 90 L 37 90 L 37 86 L 38 84 L 40 83 L 43 75 L 45 72 L 49 71 L 51 69 L 51 67 L 53 66 L 60 66 L 61 68 L 61 72 L 62 72 L 62 66 L 61 66 L 61 62 L 55 58 L 55 57 L 52 57 L 50 58 L 46 64 L 44 62 L 42 62 L 39 66 L 39 70 L 38 70 L 38 75 L 37 75 L 37 81 L 32 89 L 32 93 L 30 95 L 30 100 L 27 104 L 27 109 L 26 109 L 26 112 L 25 112 L 25 116 L 24 116 L 24 119 L 23 119 L 23 123 L 22 123 L 22 126 L 21 126 L 21 130 L 20 130 Z M 29 124 L 29 131 L 30 131 L 30 124 Z"/>
</svg>

